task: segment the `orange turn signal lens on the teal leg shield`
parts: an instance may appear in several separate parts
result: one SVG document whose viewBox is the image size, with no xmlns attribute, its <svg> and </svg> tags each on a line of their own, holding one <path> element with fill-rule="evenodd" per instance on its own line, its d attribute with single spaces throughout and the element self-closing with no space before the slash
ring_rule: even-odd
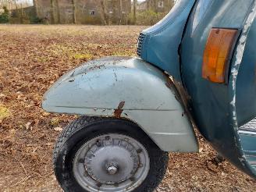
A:
<svg viewBox="0 0 256 192">
<path fill-rule="evenodd" d="M 238 34 L 239 30 L 236 29 L 212 28 L 204 49 L 204 79 L 219 84 L 227 82 L 229 62 Z"/>
</svg>

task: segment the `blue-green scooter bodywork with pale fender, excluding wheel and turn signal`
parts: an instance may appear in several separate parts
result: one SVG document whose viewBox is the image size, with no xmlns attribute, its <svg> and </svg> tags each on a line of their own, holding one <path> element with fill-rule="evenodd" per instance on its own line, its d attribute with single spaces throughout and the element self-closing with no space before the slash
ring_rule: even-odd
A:
<svg viewBox="0 0 256 192">
<path fill-rule="evenodd" d="M 144 61 L 88 62 L 62 76 L 42 106 L 48 112 L 129 119 L 163 151 L 198 151 L 185 101 L 168 73 L 189 94 L 186 106 L 190 103 L 190 115 L 205 139 L 255 178 L 256 123 L 252 132 L 243 128 L 256 116 L 255 15 L 255 0 L 180 0 L 164 20 L 140 34 L 138 55 Z M 240 31 L 225 84 L 202 77 L 212 28 Z"/>
</svg>

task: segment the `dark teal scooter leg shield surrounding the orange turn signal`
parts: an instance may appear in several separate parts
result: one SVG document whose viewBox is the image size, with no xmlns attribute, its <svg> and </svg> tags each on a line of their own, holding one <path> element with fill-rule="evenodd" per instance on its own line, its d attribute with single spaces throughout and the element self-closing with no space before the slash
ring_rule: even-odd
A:
<svg viewBox="0 0 256 192">
<path fill-rule="evenodd" d="M 253 107 L 255 99 L 249 94 L 249 88 L 255 91 L 254 75 L 250 72 L 255 69 L 254 56 L 251 55 L 251 52 L 255 52 L 255 48 L 252 48 L 255 35 L 249 34 L 248 36 L 255 16 L 255 1 L 214 0 L 207 6 L 207 9 L 204 9 L 204 16 L 195 16 L 200 7 L 205 8 L 203 4 L 206 2 L 201 0 L 195 5 L 181 45 L 181 73 L 183 84 L 191 97 L 191 113 L 194 115 L 199 130 L 212 146 L 238 168 L 255 178 L 256 170 L 245 157 L 241 143 L 247 139 L 241 138 L 238 133 L 239 125 L 255 116 Z M 197 23 L 197 27 L 194 27 L 194 23 Z M 214 84 L 201 77 L 204 48 L 212 27 L 242 30 L 233 55 L 228 84 Z M 247 51 L 244 52 L 246 41 L 251 41 L 251 43 L 247 44 Z M 242 62 L 239 68 L 242 59 L 244 66 Z M 236 79 L 238 72 L 240 74 Z M 249 79 L 246 77 L 247 74 L 249 74 Z M 251 80 L 250 83 L 249 80 Z M 247 103 L 247 99 L 248 102 L 252 101 L 251 109 L 243 104 Z M 254 140 L 251 142 L 251 146 L 256 148 Z"/>
</svg>

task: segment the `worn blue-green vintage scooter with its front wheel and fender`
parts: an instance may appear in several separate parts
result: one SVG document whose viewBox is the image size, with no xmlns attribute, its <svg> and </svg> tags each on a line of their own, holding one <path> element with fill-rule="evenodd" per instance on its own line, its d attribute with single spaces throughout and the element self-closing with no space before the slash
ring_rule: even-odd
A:
<svg viewBox="0 0 256 192">
<path fill-rule="evenodd" d="M 169 151 L 198 151 L 194 127 L 256 178 L 255 14 L 255 0 L 180 0 L 140 34 L 140 59 L 98 59 L 62 76 L 42 103 L 80 115 L 55 145 L 62 189 L 153 191 Z"/>
</svg>

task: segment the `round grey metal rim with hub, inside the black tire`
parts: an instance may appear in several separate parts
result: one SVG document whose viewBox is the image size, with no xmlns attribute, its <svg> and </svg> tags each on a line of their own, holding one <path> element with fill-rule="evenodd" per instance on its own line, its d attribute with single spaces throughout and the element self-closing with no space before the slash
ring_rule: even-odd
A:
<svg viewBox="0 0 256 192">
<path fill-rule="evenodd" d="M 73 174 L 89 191 L 132 191 L 146 179 L 148 151 L 139 141 L 121 134 L 88 140 L 76 152 Z"/>
</svg>

